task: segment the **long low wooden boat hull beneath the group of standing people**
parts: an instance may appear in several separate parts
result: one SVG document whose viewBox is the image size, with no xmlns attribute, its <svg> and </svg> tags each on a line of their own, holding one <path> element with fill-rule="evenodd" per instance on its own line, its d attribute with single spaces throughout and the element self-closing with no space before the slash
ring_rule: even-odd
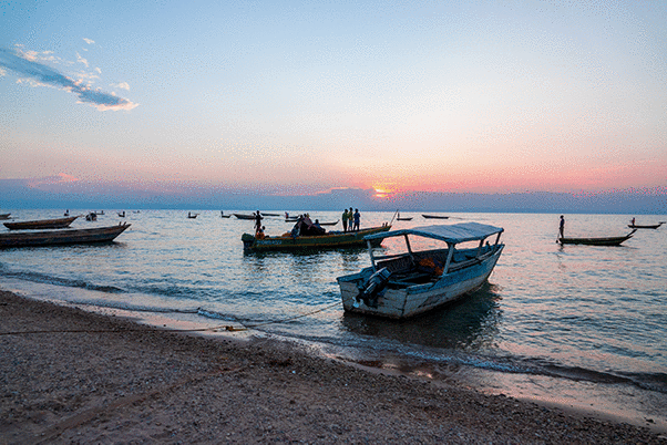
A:
<svg viewBox="0 0 667 445">
<path fill-rule="evenodd" d="M 391 226 L 384 224 L 380 227 L 371 227 L 358 231 L 331 231 L 318 236 L 298 236 L 291 237 L 289 232 L 281 236 L 266 236 L 256 238 L 250 234 L 243 234 L 240 240 L 245 251 L 271 251 L 271 250 L 304 250 L 304 249 L 339 249 L 349 247 L 363 247 L 367 235 L 379 234 L 391 229 Z M 373 241 L 373 246 L 379 246 L 382 240 Z"/>
</svg>

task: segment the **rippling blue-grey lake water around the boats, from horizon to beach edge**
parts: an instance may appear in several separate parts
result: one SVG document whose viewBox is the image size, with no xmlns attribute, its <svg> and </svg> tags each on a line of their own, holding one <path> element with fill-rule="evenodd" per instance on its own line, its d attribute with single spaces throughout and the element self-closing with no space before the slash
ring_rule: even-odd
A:
<svg viewBox="0 0 667 445">
<path fill-rule="evenodd" d="M 62 215 L 2 211 L 18 220 Z M 173 327 L 249 325 L 330 356 L 667 425 L 667 226 L 639 230 L 622 247 L 561 247 L 558 215 L 449 214 L 435 224 L 504 227 L 503 256 L 471 298 L 397 323 L 346 314 L 339 304 L 336 277 L 368 266 L 366 250 L 246 255 L 240 236 L 253 221 L 186 215 L 127 213 L 122 220 L 132 227 L 107 246 L 0 251 L 0 287 Z M 362 213 L 361 225 L 392 216 Z M 433 224 L 401 216 L 414 218 L 394 228 Z M 566 215 L 566 234 L 623 235 L 630 218 Z M 120 220 L 106 210 L 96 222 L 72 226 Z M 640 216 L 637 224 L 663 220 Z M 268 235 L 291 227 L 279 217 L 264 222 Z"/>
</svg>

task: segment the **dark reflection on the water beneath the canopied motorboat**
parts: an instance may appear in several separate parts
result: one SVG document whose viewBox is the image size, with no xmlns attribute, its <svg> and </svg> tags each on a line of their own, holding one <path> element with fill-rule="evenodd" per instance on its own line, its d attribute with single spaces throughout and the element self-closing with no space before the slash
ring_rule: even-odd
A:
<svg viewBox="0 0 667 445">
<path fill-rule="evenodd" d="M 396 321 L 355 313 L 342 315 L 342 328 L 429 348 L 478 351 L 490 348 L 502 322 L 499 289 L 486 283 L 468 298 L 415 319 Z"/>
</svg>

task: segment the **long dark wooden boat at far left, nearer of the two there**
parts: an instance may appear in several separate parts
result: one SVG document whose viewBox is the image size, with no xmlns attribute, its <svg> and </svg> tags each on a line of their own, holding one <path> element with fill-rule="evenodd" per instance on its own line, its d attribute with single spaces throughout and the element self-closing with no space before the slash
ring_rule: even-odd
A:
<svg viewBox="0 0 667 445">
<path fill-rule="evenodd" d="M 111 242 L 130 226 L 125 222 L 94 229 L 4 232 L 0 234 L 0 248 Z"/>
</svg>

